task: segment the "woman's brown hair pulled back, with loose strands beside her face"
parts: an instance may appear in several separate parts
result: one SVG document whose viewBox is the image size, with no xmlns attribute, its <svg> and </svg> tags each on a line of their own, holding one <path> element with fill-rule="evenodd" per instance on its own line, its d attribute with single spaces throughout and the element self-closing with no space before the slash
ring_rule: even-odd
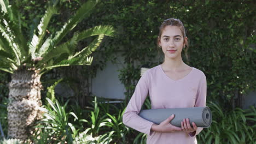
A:
<svg viewBox="0 0 256 144">
<path fill-rule="evenodd" d="M 185 27 L 184 27 L 183 23 L 181 22 L 181 20 L 179 20 L 179 19 L 170 18 L 170 19 L 167 19 L 164 22 L 162 22 L 162 25 L 159 27 L 159 34 L 158 34 L 158 39 L 157 39 L 158 50 L 160 48 L 159 41 L 161 39 L 162 31 L 164 30 L 164 28 L 166 26 L 177 26 L 177 27 L 179 27 L 179 29 L 181 29 L 185 46 L 187 46 L 184 51 L 185 51 L 185 55 L 188 59 L 187 52 L 188 52 L 189 44 L 188 44 L 188 41 L 185 41 L 185 37 L 187 37 L 186 33 L 185 33 Z"/>
</svg>

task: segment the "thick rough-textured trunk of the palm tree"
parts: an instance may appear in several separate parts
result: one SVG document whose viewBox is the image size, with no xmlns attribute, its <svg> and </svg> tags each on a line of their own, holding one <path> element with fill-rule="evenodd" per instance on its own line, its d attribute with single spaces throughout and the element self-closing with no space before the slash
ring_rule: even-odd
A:
<svg viewBox="0 0 256 144">
<path fill-rule="evenodd" d="M 42 84 L 38 70 L 19 69 L 11 75 L 9 83 L 8 136 L 26 140 L 30 126 L 41 117 Z"/>
</svg>

